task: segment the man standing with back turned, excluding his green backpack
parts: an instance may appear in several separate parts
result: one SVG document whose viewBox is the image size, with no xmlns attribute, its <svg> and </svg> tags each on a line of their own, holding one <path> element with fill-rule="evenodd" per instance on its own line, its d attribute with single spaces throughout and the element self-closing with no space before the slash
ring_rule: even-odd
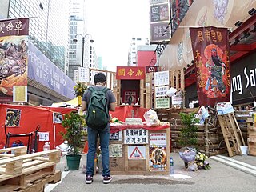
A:
<svg viewBox="0 0 256 192">
<path fill-rule="evenodd" d="M 98 73 L 94 75 L 94 90 L 103 90 L 106 86 L 106 76 L 105 74 Z M 82 96 L 82 111 L 88 110 L 90 105 L 91 90 L 86 90 Z M 106 90 L 106 104 L 108 110 L 114 111 L 116 99 L 111 90 Z M 87 111 L 88 112 L 88 111 Z M 97 138 L 99 135 L 100 146 L 102 153 L 102 177 L 103 183 L 110 183 L 112 177 L 110 176 L 110 158 L 109 158 L 109 142 L 110 142 L 110 124 L 107 123 L 104 129 L 95 129 L 88 126 L 88 154 L 87 154 L 87 164 L 86 164 L 86 183 L 90 184 L 93 182 L 94 176 L 94 157 L 97 148 Z"/>
</svg>

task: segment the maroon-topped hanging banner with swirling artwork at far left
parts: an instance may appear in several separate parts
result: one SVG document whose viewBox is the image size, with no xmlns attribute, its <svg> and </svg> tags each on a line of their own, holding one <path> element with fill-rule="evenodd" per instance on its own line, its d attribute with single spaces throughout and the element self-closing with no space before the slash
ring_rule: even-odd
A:
<svg viewBox="0 0 256 192">
<path fill-rule="evenodd" d="M 0 20 L 0 102 L 27 102 L 28 30 L 29 18 Z"/>
</svg>

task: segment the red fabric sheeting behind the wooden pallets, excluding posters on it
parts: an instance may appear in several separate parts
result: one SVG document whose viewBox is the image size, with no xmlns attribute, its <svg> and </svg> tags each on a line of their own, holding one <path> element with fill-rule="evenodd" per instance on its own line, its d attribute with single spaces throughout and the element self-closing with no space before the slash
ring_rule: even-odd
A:
<svg viewBox="0 0 256 192">
<path fill-rule="evenodd" d="M 6 110 L 21 110 L 21 118 L 18 127 L 7 127 L 7 132 L 12 134 L 27 134 L 34 132 L 36 127 L 40 125 L 39 132 L 49 132 L 50 149 L 54 146 L 62 144 L 62 137 L 58 134 L 64 130 L 61 123 L 53 123 L 53 113 L 67 114 L 76 109 L 61 108 L 61 107 L 42 107 L 42 106 L 18 106 L 0 104 L 0 148 L 5 146 L 6 135 L 4 125 L 6 122 Z M 55 126 L 55 142 L 54 142 L 54 126 Z M 34 134 L 33 134 L 34 138 Z M 21 140 L 24 145 L 27 145 L 27 138 L 10 138 L 10 146 L 15 140 Z M 45 142 L 38 142 L 38 151 L 42 151 L 42 146 Z"/>
</svg>

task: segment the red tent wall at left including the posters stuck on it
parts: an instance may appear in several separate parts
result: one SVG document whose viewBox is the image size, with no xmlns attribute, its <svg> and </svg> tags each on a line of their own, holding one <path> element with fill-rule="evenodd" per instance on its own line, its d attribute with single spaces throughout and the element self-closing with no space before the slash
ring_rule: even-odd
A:
<svg viewBox="0 0 256 192">
<path fill-rule="evenodd" d="M 64 130 L 61 123 L 63 115 L 75 110 L 77 109 L 0 104 L 0 149 L 5 146 L 6 142 L 5 123 L 8 123 L 7 132 L 12 134 L 33 132 L 33 138 L 34 131 L 39 125 L 39 133 L 45 133 L 48 141 L 42 141 L 42 139 L 38 141 L 38 151 L 42 151 L 45 142 L 50 142 L 50 149 L 54 149 L 63 142 L 62 136 L 58 134 Z M 27 145 L 26 138 L 10 138 L 10 146 L 17 140 L 21 140 L 25 146 Z"/>
</svg>

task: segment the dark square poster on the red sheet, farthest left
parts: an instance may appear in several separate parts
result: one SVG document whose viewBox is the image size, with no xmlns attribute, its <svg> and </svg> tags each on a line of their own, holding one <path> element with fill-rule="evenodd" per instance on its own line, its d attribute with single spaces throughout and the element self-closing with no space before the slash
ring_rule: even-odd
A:
<svg viewBox="0 0 256 192">
<path fill-rule="evenodd" d="M 7 109 L 6 110 L 6 126 L 18 127 L 21 120 L 22 110 Z"/>
</svg>

